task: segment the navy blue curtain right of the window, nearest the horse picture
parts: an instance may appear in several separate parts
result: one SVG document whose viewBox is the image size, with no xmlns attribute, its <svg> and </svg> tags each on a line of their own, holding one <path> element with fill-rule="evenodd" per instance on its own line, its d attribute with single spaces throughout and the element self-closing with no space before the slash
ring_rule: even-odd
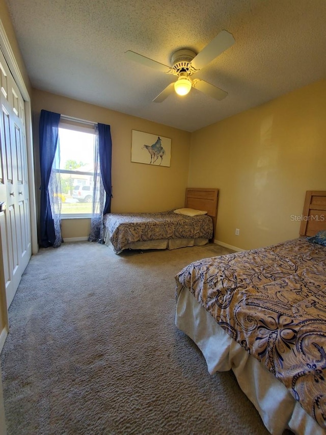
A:
<svg viewBox="0 0 326 435">
<path fill-rule="evenodd" d="M 112 165 L 112 139 L 110 125 L 98 124 L 98 148 L 100 169 L 105 190 L 105 203 L 103 215 L 111 212 L 111 165 Z"/>
</svg>

